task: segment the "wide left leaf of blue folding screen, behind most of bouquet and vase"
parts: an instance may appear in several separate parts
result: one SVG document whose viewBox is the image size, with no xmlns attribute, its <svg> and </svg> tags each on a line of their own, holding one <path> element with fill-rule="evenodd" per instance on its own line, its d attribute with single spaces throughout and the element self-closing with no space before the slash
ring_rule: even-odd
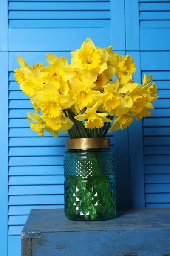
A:
<svg viewBox="0 0 170 256">
<path fill-rule="evenodd" d="M 14 79 L 16 55 L 32 65 L 78 49 L 87 37 L 113 45 L 125 55 L 125 5 L 96 0 L 0 1 L 0 227 L 3 256 L 20 255 L 20 232 L 31 209 L 63 207 L 65 137 L 45 137 L 29 129 L 28 97 Z M 116 154 L 118 205 L 130 207 L 128 130 L 111 135 Z M 123 159 L 123 161 L 122 161 Z"/>
</svg>

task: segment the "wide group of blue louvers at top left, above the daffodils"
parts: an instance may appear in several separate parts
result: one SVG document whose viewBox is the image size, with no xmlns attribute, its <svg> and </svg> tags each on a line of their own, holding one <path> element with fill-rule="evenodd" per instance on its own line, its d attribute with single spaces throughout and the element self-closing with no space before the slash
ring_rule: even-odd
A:
<svg viewBox="0 0 170 256">
<path fill-rule="evenodd" d="M 110 1 L 9 1 L 9 28 L 110 28 Z"/>
</svg>

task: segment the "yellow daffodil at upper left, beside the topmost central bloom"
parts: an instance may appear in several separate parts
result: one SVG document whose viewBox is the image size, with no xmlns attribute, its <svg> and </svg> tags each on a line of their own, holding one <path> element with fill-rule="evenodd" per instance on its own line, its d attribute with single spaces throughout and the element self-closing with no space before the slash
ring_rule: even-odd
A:
<svg viewBox="0 0 170 256">
<path fill-rule="evenodd" d="M 65 63 L 62 58 L 56 58 L 51 65 L 40 69 L 43 73 L 45 83 L 54 84 L 62 93 L 67 94 L 69 91 L 68 80 L 73 78 L 75 73 L 64 67 Z"/>
</svg>

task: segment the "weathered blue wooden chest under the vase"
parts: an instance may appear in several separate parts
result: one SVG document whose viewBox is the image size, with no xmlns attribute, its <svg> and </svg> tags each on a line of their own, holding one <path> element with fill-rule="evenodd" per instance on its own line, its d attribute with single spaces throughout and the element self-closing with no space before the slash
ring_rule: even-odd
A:
<svg viewBox="0 0 170 256">
<path fill-rule="evenodd" d="M 96 222 L 70 221 L 62 209 L 32 210 L 22 245 L 30 238 L 32 255 L 23 256 L 105 256 L 106 251 L 108 256 L 160 256 L 170 253 L 170 208 L 126 209 L 113 220 Z"/>
</svg>

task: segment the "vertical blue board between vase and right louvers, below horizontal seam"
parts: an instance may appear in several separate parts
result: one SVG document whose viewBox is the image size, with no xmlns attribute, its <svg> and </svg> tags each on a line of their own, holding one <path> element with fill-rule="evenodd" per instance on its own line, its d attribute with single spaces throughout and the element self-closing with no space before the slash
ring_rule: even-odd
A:
<svg viewBox="0 0 170 256">
<path fill-rule="evenodd" d="M 141 80 L 140 52 L 127 52 L 137 63 L 134 78 Z M 134 121 L 129 127 L 129 160 L 131 207 L 145 207 L 144 198 L 144 159 L 142 120 Z"/>
</svg>

